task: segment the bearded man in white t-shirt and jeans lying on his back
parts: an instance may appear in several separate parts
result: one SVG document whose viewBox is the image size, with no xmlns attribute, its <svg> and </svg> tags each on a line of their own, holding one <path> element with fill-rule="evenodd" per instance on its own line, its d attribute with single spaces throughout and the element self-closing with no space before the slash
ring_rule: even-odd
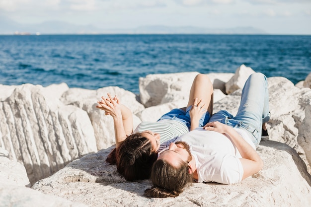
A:
<svg viewBox="0 0 311 207">
<path fill-rule="evenodd" d="M 234 184 L 258 172 L 263 162 L 255 146 L 262 123 L 270 118 L 268 103 L 266 76 L 251 74 L 235 117 L 219 111 L 203 128 L 181 136 L 159 153 L 151 175 L 154 186 L 145 195 L 176 197 L 193 179 Z"/>
</svg>

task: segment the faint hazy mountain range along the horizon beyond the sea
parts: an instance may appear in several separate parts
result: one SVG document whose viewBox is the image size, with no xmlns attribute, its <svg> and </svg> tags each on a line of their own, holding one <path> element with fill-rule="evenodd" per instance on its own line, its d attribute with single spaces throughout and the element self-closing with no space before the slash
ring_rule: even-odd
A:
<svg viewBox="0 0 311 207">
<path fill-rule="evenodd" d="M 19 34 L 266 34 L 265 31 L 254 27 L 201 28 L 154 25 L 134 29 L 102 29 L 93 25 L 75 25 L 61 21 L 20 24 L 0 16 L 0 34 L 14 34 L 14 32 Z"/>
</svg>

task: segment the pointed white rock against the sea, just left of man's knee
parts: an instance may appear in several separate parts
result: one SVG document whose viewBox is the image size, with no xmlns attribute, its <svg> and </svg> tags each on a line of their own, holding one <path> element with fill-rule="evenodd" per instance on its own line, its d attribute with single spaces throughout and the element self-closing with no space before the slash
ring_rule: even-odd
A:
<svg viewBox="0 0 311 207">
<path fill-rule="evenodd" d="M 238 67 L 233 77 L 226 83 L 226 93 L 230 94 L 237 89 L 243 88 L 248 76 L 254 72 L 253 69 L 245 65 Z"/>
</svg>

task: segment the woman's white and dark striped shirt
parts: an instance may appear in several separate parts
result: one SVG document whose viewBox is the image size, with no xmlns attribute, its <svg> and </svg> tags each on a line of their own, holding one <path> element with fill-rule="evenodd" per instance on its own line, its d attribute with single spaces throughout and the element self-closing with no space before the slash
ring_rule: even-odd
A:
<svg viewBox="0 0 311 207">
<path fill-rule="evenodd" d="M 181 135 L 189 132 L 186 125 L 171 119 L 163 119 L 157 122 L 142 122 L 134 132 L 144 131 L 151 131 L 160 135 L 160 148 L 157 151 L 161 151 Z"/>
</svg>

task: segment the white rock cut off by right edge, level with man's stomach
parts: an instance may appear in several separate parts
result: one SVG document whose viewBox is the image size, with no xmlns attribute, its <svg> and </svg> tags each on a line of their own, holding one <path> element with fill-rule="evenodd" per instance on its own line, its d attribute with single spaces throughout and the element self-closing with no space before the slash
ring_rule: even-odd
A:
<svg viewBox="0 0 311 207">
<path fill-rule="evenodd" d="M 307 160 L 311 165 L 311 105 L 306 107 L 305 119 L 300 125 L 298 143 L 303 147 Z"/>
</svg>

